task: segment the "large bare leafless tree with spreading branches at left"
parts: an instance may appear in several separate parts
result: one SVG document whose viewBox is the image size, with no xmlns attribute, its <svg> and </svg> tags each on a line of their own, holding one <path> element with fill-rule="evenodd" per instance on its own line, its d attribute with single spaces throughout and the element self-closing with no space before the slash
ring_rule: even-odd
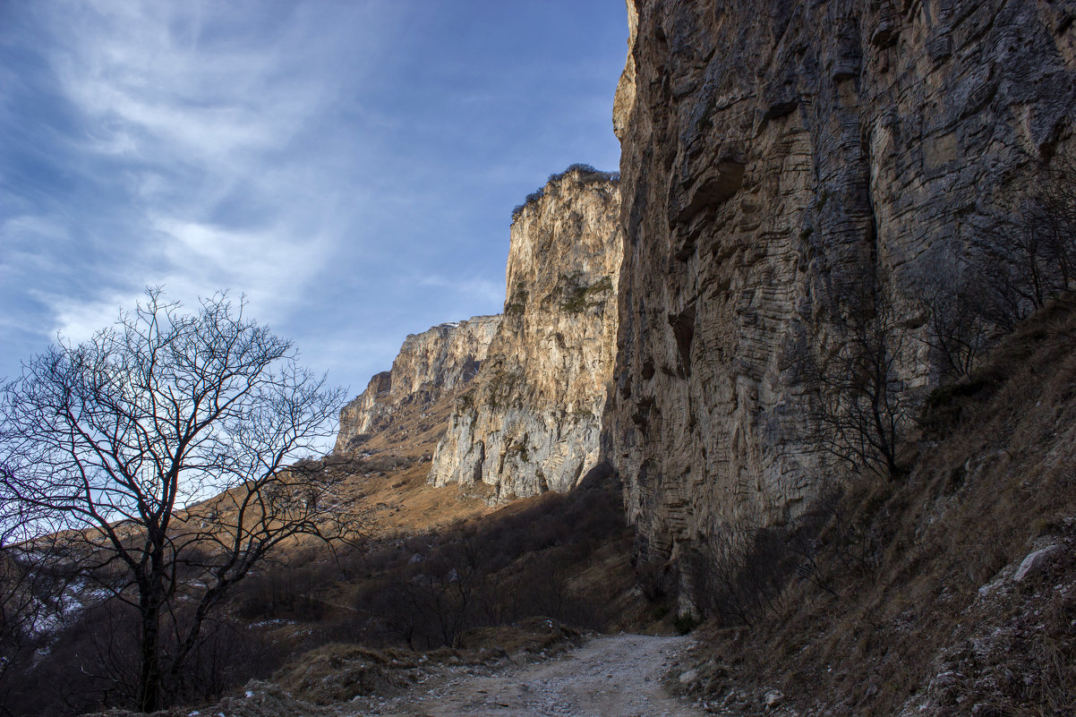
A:
<svg viewBox="0 0 1076 717">
<path fill-rule="evenodd" d="M 331 434 L 342 391 L 245 319 L 244 301 L 217 294 L 188 314 L 146 295 L 3 386 L 0 500 L 47 515 L 30 538 L 62 535 L 72 570 L 133 610 L 126 692 L 152 712 L 255 564 L 300 535 L 354 539 L 359 523 L 318 510 L 339 478 L 288 465 Z"/>
</svg>

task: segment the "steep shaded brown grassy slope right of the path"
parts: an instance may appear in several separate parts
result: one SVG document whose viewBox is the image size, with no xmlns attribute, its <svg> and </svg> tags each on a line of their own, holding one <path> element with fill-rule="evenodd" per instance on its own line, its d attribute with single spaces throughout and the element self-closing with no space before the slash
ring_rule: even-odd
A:
<svg viewBox="0 0 1076 717">
<path fill-rule="evenodd" d="M 1073 297 L 936 391 L 912 450 L 906 477 L 859 478 L 785 529 L 794 571 L 763 619 L 703 629 L 692 692 L 710 711 L 761 714 L 779 690 L 802 715 L 1072 714 Z M 1014 581 L 1054 544 L 1044 570 Z"/>
</svg>

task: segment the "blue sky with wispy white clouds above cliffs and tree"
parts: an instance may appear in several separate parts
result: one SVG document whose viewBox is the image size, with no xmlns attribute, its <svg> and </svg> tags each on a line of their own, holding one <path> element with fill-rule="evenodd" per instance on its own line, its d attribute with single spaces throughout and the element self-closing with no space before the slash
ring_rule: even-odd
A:
<svg viewBox="0 0 1076 717">
<path fill-rule="evenodd" d="M 359 393 L 497 313 L 510 212 L 617 169 L 622 0 L 0 0 L 0 377 L 227 287 Z"/>
</svg>

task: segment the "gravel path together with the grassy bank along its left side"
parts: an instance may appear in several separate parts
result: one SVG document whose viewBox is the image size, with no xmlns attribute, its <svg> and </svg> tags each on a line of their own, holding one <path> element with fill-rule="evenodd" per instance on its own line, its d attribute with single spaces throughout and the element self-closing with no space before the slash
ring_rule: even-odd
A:
<svg viewBox="0 0 1076 717">
<path fill-rule="evenodd" d="M 548 627 L 547 633 L 555 631 L 552 621 Z M 331 646 L 305 657 L 274 681 L 251 683 L 201 709 L 171 709 L 155 717 L 695 717 L 704 713 L 667 690 L 691 642 L 622 633 L 568 650 L 558 649 L 563 639 L 547 643 L 541 651 L 507 656 L 496 650 L 501 657 L 484 660 L 475 652 L 417 655 Z"/>
</svg>

